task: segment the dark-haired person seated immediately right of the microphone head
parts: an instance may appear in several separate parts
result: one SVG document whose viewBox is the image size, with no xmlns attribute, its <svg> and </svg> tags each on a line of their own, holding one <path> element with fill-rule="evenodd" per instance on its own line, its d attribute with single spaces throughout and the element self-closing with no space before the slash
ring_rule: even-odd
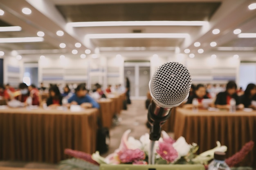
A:
<svg viewBox="0 0 256 170">
<path fill-rule="evenodd" d="M 198 84 L 195 87 L 195 94 L 189 96 L 188 101 L 183 106 L 184 108 L 192 108 L 192 101 L 193 99 L 198 99 L 198 107 L 203 107 L 202 100 L 203 99 L 209 99 L 209 97 L 206 95 L 206 88 L 202 84 Z"/>
</svg>

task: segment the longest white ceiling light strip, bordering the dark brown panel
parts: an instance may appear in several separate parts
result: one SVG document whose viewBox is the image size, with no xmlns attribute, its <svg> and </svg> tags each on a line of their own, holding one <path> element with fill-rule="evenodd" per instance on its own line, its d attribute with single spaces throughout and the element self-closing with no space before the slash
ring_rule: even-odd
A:
<svg viewBox="0 0 256 170">
<path fill-rule="evenodd" d="M 207 21 L 99 21 L 99 22 L 69 22 L 72 27 L 89 26 L 204 26 Z"/>
</svg>

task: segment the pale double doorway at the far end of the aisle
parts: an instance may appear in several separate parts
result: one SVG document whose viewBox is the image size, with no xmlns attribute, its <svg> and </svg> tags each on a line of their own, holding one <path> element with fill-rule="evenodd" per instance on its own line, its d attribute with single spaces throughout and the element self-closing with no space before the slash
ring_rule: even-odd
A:
<svg viewBox="0 0 256 170">
<path fill-rule="evenodd" d="M 124 78 L 130 80 L 131 99 L 146 99 L 150 81 L 150 62 L 125 62 Z"/>
</svg>

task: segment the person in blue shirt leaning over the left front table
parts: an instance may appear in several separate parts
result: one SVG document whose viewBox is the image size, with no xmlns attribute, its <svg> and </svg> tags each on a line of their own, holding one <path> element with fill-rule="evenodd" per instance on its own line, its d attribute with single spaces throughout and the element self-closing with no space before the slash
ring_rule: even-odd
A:
<svg viewBox="0 0 256 170">
<path fill-rule="evenodd" d="M 78 104 L 82 108 L 99 108 L 99 104 L 87 94 L 85 84 L 79 84 L 75 93 L 68 99 L 70 104 Z"/>
</svg>

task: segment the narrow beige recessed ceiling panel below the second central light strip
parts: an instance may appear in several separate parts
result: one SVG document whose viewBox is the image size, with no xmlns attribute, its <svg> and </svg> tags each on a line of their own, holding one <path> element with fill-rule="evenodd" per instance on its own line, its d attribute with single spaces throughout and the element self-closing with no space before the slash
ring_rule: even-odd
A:
<svg viewBox="0 0 256 170">
<path fill-rule="evenodd" d="M 183 39 L 160 39 L 160 38 L 154 38 L 154 39 L 92 39 L 92 43 L 95 46 L 99 47 L 135 47 L 135 46 L 144 46 L 144 47 L 169 47 L 169 46 L 179 46 L 180 43 L 183 41 Z"/>
</svg>

